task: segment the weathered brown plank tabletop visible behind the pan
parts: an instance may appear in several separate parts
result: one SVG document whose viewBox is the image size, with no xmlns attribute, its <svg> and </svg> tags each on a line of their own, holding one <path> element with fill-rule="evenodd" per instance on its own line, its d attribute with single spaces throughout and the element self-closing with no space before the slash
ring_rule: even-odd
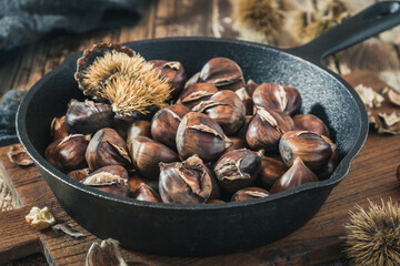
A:
<svg viewBox="0 0 400 266">
<path fill-rule="evenodd" d="M 238 1 L 151 1 L 144 10 L 142 20 L 136 27 L 98 30 L 82 34 L 51 33 L 33 44 L 2 54 L 0 61 L 0 96 L 11 89 L 29 90 L 43 74 L 59 65 L 67 55 L 100 41 L 128 42 L 162 37 L 206 35 L 254 42 L 267 42 L 266 40 L 269 40 L 270 44 L 280 48 L 299 44 L 294 38 L 288 37 L 284 30 L 283 33 L 280 32 L 272 38 L 266 38 L 239 24 L 232 17 L 236 9 L 233 3 L 236 2 Z M 304 7 L 307 0 L 292 0 L 292 2 L 299 7 Z M 357 12 L 376 1 L 349 0 L 347 2 L 349 2 L 351 10 Z M 400 90 L 400 57 L 398 52 L 400 40 L 397 40 L 398 32 L 399 27 L 330 57 L 326 60 L 326 64 L 339 74 L 360 69 L 370 70 L 392 88 Z M 382 57 L 382 52 L 386 57 Z M 394 166 L 398 162 L 399 160 L 393 157 L 387 163 Z M 0 211 L 10 209 L 14 206 L 16 203 L 0 176 Z M 31 264 L 28 262 L 26 265 Z"/>
</svg>

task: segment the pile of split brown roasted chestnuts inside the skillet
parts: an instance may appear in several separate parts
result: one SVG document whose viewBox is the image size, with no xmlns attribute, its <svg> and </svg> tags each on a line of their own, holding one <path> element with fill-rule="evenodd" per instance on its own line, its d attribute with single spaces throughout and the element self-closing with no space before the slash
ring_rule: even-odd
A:
<svg viewBox="0 0 400 266">
<path fill-rule="evenodd" d="M 44 156 L 82 184 L 140 201 L 247 201 L 330 174 L 337 145 L 323 122 L 298 114 L 296 88 L 244 83 L 213 58 L 187 80 L 179 62 L 149 61 L 173 88 L 171 105 L 119 116 L 104 101 L 71 100 Z"/>
</svg>

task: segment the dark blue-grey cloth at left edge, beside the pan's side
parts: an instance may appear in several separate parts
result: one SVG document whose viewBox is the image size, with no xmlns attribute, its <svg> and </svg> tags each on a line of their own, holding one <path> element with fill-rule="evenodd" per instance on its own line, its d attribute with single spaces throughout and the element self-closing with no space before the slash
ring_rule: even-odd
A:
<svg viewBox="0 0 400 266">
<path fill-rule="evenodd" d="M 16 114 L 27 91 L 8 91 L 0 103 L 0 146 L 18 142 L 16 132 Z"/>
</svg>

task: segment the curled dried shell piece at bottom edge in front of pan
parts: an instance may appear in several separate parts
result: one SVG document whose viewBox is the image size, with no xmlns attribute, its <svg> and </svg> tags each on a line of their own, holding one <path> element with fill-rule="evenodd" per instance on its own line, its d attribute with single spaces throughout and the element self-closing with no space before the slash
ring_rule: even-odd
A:
<svg viewBox="0 0 400 266">
<path fill-rule="evenodd" d="M 101 244 L 94 242 L 86 257 L 86 266 L 128 266 L 119 252 L 119 243 L 108 238 Z"/>
</svg>

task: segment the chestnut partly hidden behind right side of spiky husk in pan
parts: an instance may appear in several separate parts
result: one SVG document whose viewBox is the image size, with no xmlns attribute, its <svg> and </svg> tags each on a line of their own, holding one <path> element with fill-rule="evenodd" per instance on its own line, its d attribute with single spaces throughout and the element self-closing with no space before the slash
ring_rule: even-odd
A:
<svg viewBox="0 0 400 266">
<path fill-rule="evenodd" d="M 149 60 L 148 62 L 152 63 L 153 68 L 160 70 L 161 74 L 168 79 L 168 82 L 173 88 L 171 96 L 178 96 L 187 82 L 183 65 L 178 61 Z"/>
</svg>

